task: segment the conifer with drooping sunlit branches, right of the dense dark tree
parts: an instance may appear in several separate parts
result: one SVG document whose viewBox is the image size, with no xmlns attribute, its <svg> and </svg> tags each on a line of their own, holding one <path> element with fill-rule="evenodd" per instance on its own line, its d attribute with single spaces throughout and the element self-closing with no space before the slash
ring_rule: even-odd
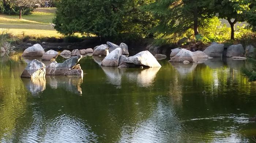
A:
<svg viewBox="0 0 256 143">
<path fill-rule="evenodd" d="M 193 29 L 198 35 L 200 21 L 212 17 L 208 0 L 157 0 L 145 7 L 153 13 L 159 23 L 152 30 L 162 35 L 182 35 L 188 29 Z"/>
</svg>

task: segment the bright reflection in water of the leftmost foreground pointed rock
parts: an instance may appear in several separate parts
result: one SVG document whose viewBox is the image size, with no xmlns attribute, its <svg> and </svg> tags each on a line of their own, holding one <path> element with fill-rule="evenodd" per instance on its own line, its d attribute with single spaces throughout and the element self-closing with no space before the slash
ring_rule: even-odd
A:
<svg viewBox="0 0 256 143">
<path fill-rule="evenodd" d="M 38 94 L 39 92 L 43 92 L 45 90 L 46 80 L 44 78 L 39 78 L 39 79 L 22 78 L 21 80 L 24 83 L 27 90 L 31 92 L 31 94 Z"/>
</svg>

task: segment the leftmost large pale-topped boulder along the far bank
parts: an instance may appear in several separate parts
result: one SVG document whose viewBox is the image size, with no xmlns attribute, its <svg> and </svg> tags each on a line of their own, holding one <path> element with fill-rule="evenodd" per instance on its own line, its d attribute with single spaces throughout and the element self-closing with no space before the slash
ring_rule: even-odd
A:
<svg viewBox="0 0 256 143">
<path fill-rule="evenodd" d="M 32 47 L 25 49 L 22 56 L 42 56 L 45 53 L 40 44 L 34 44 Z"/>
</svg>

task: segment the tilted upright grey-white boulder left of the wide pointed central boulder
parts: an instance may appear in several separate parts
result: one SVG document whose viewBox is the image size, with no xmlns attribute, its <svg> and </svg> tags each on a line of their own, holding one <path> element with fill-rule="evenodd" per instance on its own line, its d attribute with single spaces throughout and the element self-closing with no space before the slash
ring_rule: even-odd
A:
<svg viewBox="0 0 256 143">
<path fill-rule="evenodd" d="M 108 67 L 116 67 L 118 66 L 121 55 L 122 55 L 122 49 L 116 48 L 102 60 L 101 65 L 108 66 Z"/>
</svg>

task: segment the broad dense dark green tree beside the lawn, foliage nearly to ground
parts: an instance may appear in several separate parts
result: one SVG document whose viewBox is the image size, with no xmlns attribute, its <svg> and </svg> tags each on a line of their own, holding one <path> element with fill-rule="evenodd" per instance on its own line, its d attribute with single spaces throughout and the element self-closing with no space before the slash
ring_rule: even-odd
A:
<svg viewBox="0 0 256 143">
<path fill-rule="evenodd" d="M 53 20 L 54 28 L 64 35 L 78 32 L 112 40 L 146 37 L 154 20 L 139 7 L 151 1 L 61 0 Z"/>
</svg>

